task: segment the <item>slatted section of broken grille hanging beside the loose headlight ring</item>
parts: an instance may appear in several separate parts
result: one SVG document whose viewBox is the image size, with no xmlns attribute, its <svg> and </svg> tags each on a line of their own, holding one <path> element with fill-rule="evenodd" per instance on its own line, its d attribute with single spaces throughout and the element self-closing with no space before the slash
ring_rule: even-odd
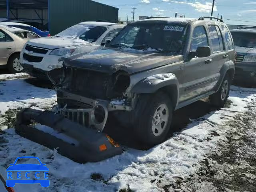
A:
<svg viewBox="0 0 256 192">
<path fill-rule="evenodd" d="M 89 125 L 89 110 L 86 109 L 62 109 L 60 114 L 71 121 L 77 122 L 83 126 Z"/>
</svg>

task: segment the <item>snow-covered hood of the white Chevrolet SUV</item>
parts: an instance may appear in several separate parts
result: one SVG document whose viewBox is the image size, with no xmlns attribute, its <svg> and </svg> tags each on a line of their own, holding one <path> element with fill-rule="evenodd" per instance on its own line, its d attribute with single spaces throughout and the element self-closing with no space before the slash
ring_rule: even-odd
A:
<svg viewBox="0 0 256 192">
<path fill-rule="evenodd" d="M 57 36 L 31 39 L 28 41 L 28 44 L 47 49 L 56 49 L 68 46 L 92 46 L 89 42 L 79 38 L 67 38 Z"/>
</svg>

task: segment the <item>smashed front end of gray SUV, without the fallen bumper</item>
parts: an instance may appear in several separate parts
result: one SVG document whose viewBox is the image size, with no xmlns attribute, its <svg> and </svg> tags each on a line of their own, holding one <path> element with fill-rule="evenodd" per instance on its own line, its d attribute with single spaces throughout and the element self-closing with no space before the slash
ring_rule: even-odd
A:
<svg viewBox="0 0 256 192">
<path fill-rule="evenodd" d="M 78 124 L 103 131 L 109 112 L 133 109 L 134 98 L 126 93 L 128 73 L 112 74 L 66 66 L 49 72 L 57 92 L 57 106 L 52 111 Z"/>
</svg>

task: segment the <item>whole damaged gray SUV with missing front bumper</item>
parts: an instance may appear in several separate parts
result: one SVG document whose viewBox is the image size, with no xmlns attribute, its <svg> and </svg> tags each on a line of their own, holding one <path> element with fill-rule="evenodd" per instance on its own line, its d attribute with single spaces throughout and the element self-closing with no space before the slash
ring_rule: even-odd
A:
<svg viewBox="0 0 256 192">
<path fill-rule="evenodd" d="M 62 58 L 63 68 L 49 73 L 58 100 L 52 111 L 100 132 L 113 116 L 155 145 L 170 135 L 174 110 L 207 96 L 223 107 L 233 40 L 223 20 L 206 18 L 140 20 L 105 48 Z"/>
</svg>

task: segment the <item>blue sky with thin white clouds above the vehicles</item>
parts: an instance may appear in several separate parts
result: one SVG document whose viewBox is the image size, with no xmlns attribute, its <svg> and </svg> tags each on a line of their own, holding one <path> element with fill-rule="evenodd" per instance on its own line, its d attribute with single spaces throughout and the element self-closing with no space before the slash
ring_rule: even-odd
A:
<svg viewBox="0 0 256 192">
<path fill-rule="evenodd" d="M 168 16 L 175 13 L 187 18 L 210 16 L 213 0 L 94 0 L 119 8 L 121 20 L 134 20 L 139 16 Z M 226 24 L 256 25 L 256 0 L 215 0 L 213 16 L 222 15 Z"/>
</svg>

